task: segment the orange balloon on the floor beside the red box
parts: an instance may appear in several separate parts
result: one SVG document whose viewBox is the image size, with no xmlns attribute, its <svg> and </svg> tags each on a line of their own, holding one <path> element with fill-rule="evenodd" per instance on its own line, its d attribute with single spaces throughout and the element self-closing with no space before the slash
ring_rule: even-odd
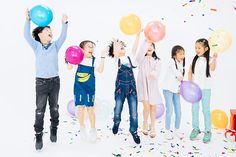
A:
<svg viewBox="0 0 236 157">
<path fill-rule="evenodd" d="M 213 110 L 211 112 L 211 121 L 216 128 L 223 129 L 227 127 L 228 117 L 222 110 Z"/>
</svg>

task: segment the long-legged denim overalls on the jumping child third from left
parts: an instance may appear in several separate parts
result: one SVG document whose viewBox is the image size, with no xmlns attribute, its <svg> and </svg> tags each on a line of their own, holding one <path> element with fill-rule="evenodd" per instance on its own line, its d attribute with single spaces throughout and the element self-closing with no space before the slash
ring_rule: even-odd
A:
<svg viewBox="0 0 236 157">
<path fill-rule="evenodd" d="M 119 124 L 121 121 L 121 112 L 125 98 L 127 98 L 129 105 L 130 115 L 130 129 L 129 131 L 136 132 L 138 128 L 138 113 L 137 113 L 137 92 L 135 79 L 132 68 L 134 66 L 128 57 L 131 67 L 120 65 L 120 59 L 118 61 L 119 70 L 116 78 L 115 89 L 115 108 L 114 108 L 114 123 Z"/>
</svg>

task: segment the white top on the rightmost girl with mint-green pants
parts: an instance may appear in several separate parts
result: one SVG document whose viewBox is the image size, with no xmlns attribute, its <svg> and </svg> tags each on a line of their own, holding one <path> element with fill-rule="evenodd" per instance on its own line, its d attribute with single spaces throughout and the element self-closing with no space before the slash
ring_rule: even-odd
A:
<svg viewBox="0 0 236 157">
<path fill-rule="evenodd" d="M 206 77 L 206 58 L 199 57 L 195 64 L 193 82 L 201 89 L 211 89 L 211 77 Z"/>
</svg>

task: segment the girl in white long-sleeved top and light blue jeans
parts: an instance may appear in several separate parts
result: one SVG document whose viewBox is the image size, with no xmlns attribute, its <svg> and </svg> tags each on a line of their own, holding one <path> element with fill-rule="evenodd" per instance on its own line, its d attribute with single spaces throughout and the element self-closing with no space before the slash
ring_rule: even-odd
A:
<svg viewBox="0 0 236 157">
<path fill-rule="evenodd" d="M 179 133 L 181 119 L 181 105 L 179 96 L 180 81 L 184 77 L 185 67 L 185 55 L 184 48 L 176 45 L 171 51 L 171 61 L 166 70 L 166 74 L 163 82 L 163 95 L 166 104 L 166 119 L 165 119 L 165 138 L 168 140 L 173 139 L 172 132 L 170 131 L 171 116 L 174 106 L 175 111 L 175 135 L 178 138 L 182 138 L 182 134 Z"/>
</svg>

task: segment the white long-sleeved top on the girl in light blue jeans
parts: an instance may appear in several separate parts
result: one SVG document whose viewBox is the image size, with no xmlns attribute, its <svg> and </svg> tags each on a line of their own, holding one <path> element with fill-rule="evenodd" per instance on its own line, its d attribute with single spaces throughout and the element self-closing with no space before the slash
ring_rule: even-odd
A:
<svg viewBox="0 0 236 157">
<path fill-rule="evenodd" d="M 180 81 L 178 77 L 183 75 L 183 62 L 176 61 L 177 69 L 175 66 L 174 59 L 171 59 L 167 65 L 167 70 L 164 76 L 164 81 L 162 82 L 162 87 L 164 90 L 169 90 L 173 93 L 179 92 Z"/>
</svg>

